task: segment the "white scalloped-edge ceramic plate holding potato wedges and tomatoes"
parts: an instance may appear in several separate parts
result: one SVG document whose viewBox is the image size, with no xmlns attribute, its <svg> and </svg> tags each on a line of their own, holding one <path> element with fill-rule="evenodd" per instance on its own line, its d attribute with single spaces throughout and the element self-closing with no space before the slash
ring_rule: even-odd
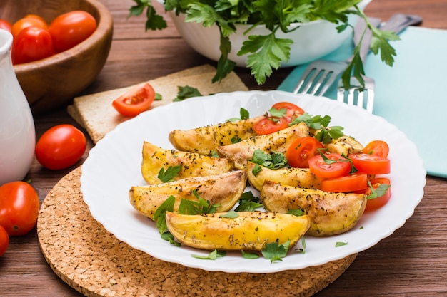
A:
<svg viewBox="0 0 447 297">
<path fill-rule="evenodd" d="M 363 144 L 375 139 L 386 140 L 391 147 L 389 177 L 393 189 L 388 204 L 364 214 L 358 225 L 345 234 L 326 238 L 306 236 L 305 254 L 291 251 L 283 261 L 273 264 L 262 256 L 243 259 L 239 252 L 228 253 L 215 261 L 196 259 L 191 255 L 209 252 L 171 246 L 162 240 L 154 222 L 138 214 L 129 203 L 131 186 L 145 184 L 140 171 L 143 142 L 172 148 L 168 140 L 171 130 L 222 123 L 238 117 L 240 108 L 246 108 L 251 116 L 261 115 L 280 101 L 296 103 L 312 115 L 331 115 L 331 125 L 345 127 L 347 135 Z M 122 123 L 90 151 L 82 166 L 81 192 L 92 216 L 117 239 L 158 259 L 207 271 L 271 273 L 325 264 L 377 244 L 411 217 L 423 197 L 425 177 L 416 146 L 383 118 L 326 98 L 282 91 L 250 91 L 190 98 Z M 336 247 L 338 241 L 347 244 Z"/>
</svg>

